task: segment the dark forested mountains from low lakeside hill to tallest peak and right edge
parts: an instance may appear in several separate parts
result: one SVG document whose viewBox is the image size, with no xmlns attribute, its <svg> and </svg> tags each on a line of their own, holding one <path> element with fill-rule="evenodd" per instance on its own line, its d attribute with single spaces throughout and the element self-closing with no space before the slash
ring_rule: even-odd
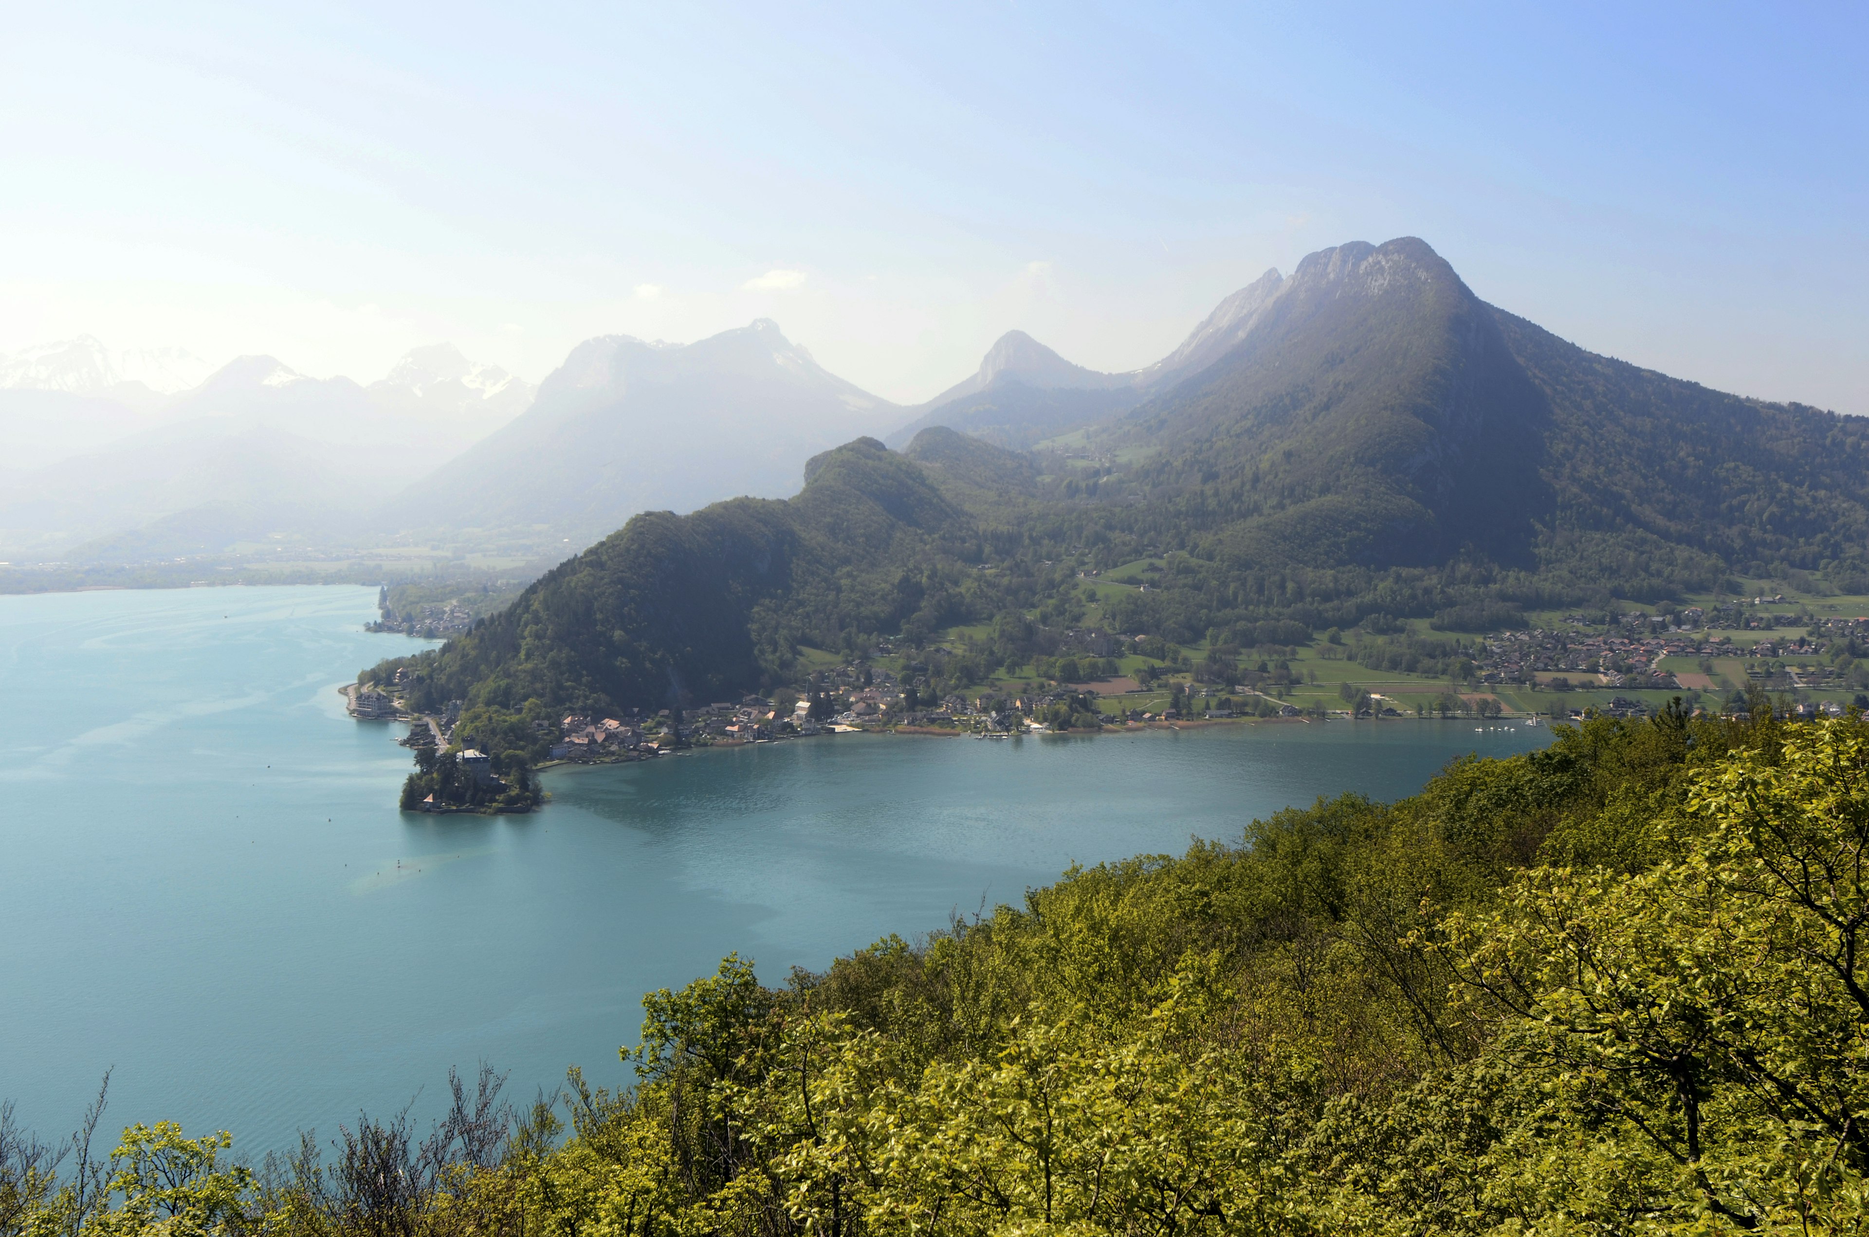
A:
<svg viewBox="0 0 1869 1237">
<path fill-rule="evenodd" d="M 1123 402 L 983 422 L 1015 385 Z M 815 458 L 791 501 L 637 516 L 424 656 L 419 697 L 514 725 L 678 706 L 877 635 L 977 682 L 1080 622 L 1084 576 L 1138 562 L 1155 583 L 1105 594 L 1101 620 L 1220 645 L 1267 622 L 1654 602 L 1729 574 L 1869 587 L 1869 419 L 1589 353 L 1413 237 L 1267 273 L 1133 374 L 1011 336 L 934 404 L 899 452 Z M 992 441 L 1062 426 L 1037 454 Z M 955 624 L 989 635 L 938 635 Z"/>
</svg>

